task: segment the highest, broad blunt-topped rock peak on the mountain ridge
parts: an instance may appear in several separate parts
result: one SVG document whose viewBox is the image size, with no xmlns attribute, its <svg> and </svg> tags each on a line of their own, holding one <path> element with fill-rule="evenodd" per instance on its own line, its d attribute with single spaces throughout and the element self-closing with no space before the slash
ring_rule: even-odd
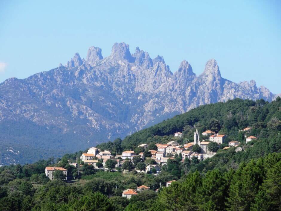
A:
<svg viewBox="0 0 281 211">
<path fill-rule="evenodd" d="M 127 60 L 128 62 L 134 62 L 134 58 L 129 50 L 129 45 L 124 42 L 114 43 L 112 46 L 111 57 L 117 60 Z"/>
</svg>

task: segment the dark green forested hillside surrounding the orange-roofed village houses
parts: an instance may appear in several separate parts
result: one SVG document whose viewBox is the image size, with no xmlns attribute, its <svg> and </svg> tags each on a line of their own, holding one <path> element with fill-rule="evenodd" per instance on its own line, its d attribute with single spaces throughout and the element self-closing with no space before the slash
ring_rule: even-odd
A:
<svg viewBox="0 0 281 211">
<path fill-rule="evenodd" d="M 250 132 L 239 132 L 248 126 L 252 127 Z M 182 157 L 175 156 L 161 167 L 158 175 L 104 172 L 84 165 L 79 176 L 68 160 L 75 160 L 82 151 L 64 155 L 60 163 L 51 158 L 24 166 L 3 166 L 0 167 L 0 210 L 280 210 L 280 98 L 271 103 L 235 99 L 204 105 L 127 136 L 123 141 L 116 139 L 98 147 L 120 154 L 126 149 L 143 151 L 138 147 L 140 143 L 149 143 L 148 149 L 155 149 L 155 143 L 171 140 L 183 144 L 193 141 L 196 129 L 225 134 L 226 142 L 241 142 L 241 151 L 236 151 L 236 147 L 223 150 L 226 144 L 222 144 L 216 155 L 201 162 L 197 159 L 182 162 Z M 173 137 L 173 133 L 181 131 L 181 138 Z M 258 139 L 246 144 L 245 135 Z M 78 180 L 50 181 L 44 169 L 54 165 L 67 168 L 70 176 Z M 177 182 L 165 187 L 170 180 Z M 141 185 L 149 186 L 150 190 L 129 200 L 121 196 L 124 189 Z"/>
</svg>

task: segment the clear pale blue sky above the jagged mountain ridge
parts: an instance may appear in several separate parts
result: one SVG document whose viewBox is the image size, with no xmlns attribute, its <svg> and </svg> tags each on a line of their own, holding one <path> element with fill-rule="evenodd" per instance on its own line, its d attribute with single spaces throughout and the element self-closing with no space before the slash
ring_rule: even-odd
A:
<svg viewBox="0 0 281 211">
<path fill-rule="evenodd" d="M 196 75 L 216 59 L 223 78 L 281 93 L 281 1 L 0 1 L 0 83 L 66 64 L 115 42 Z"/>
</svg>

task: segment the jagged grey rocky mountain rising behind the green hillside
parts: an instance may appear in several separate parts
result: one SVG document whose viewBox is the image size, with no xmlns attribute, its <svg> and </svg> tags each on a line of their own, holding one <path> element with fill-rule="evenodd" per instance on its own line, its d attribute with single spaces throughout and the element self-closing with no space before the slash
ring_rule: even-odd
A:
<svg viewBox="0 0 281 211">
<path fill-rule="evenodd" d="M 174 74 L 164 58 L 115 43 L 109 57 L 90 47 L 48 72 L 0 84 L 0 165 L 33 162 L 125 137 L 199 105 L 229 99 L 272 101 L 255 81 L 222 78 L 216 60 L 196 76 L 182 61 Z"/>
</svg>

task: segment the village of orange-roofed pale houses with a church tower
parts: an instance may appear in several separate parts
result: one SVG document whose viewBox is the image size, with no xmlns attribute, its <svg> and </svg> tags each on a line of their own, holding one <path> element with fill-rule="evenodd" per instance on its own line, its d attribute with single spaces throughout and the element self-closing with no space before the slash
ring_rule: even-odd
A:
<svg viewBox="0 0 281 211">
<path fill-rule="evenodd" d="M 257 139 L 255 136 L 246 136 L 249 133 L 251 127 L 246 127 L 243 130 L 245 132 L 246 144 L 251 142 L 252 140 Z M 213 157 L 216 152 L 208 149 L 208 145 L 211 142 L 216 143 L 216 145 L 221 145 L 225 143 L 226 135 L 218 134 L 211 130 L 206 130 L 201 133 L 202 136 L 208 137 L 208 139 L 202 139 L 200 141 L 200 133 L 196 129 L 194 132 L 194 140 L 193 142 L 186 144 L 179 144 L 177 141 L 169 141 L 167 144 L 156 143 L 157 150 L 147 150 L 149 144 L 143 143 L 138 145 L 138 148 L 143 148 L 144 152 L 140 152 L 136 154 L 132 150 L 123 151 L 122 154 L 112 155 L 110 151 L 101 151 L 96 147 L 91 147 L 88 149 L 87 153 L 83 153 L 80 157 L 80 164 L 76 163 L 68 163 L 69 165 L 74 166 L 75 168 L 81 168 L 84 164 L 88 164 L 94 167 L 94 169 L 102 169 L 104 171 L 122 171 L 124 173 L 129 173 L 132 170 L 137 172 L 143 172 L 144 174 L 159 174 L 161 172 L 161 167 L 163 165 L 167 165 L 169 159 L 173 160 L 175 157 L 182 157 L 181 162 L 184 162 L 185 159 L 192 160 L 198 159 L 198 161 L 202 161 L 204 159 Z M 181 138 L 182 133 L 176 132 L 173 135 L 174 137 Z M 194 146 L 198 145 L 200 148 L 196 149 Z M 225 146 L 223 150 L 227 150 L 230 147 L 236 147 L 237 151 L 242 151 L 242 148 L 239 147 L 240 142 L 238 141 L 230 141 L 228 142 L 228 146 Z M 144 162 L 142 165 L 134 165 L 134 161 L 137 159 L 141 159 L 141 161 L 149 161 L 147 164 Z M 129 165 L 128 165 L 129 164 Z M 125 167 L 126 166 L 126 167 Z M 129 166 L 129 168 L 128 168 Z M 54 172 L 61 171 L 64 174 L 64 180 L 68 180 L 68 170 L 62 167 L 46 167 L 45 175 L 50 179 L 54 179 Z M 176 180 L 167 181 L 166 186 L 170 186 L 172 182 Z M 161 185 L 160 185 L 161 186 Z M 122 196 L 126 198 L 131 198 L 133 195 L 137 195 L 138 192 L 143 190 L 148 190 L 149 187 L 145 185 L 141 185 L 136 189 L 125 189 L 123 190 Z M 158 192 L 158 189 L 155 190 Z"/>
</svg>

